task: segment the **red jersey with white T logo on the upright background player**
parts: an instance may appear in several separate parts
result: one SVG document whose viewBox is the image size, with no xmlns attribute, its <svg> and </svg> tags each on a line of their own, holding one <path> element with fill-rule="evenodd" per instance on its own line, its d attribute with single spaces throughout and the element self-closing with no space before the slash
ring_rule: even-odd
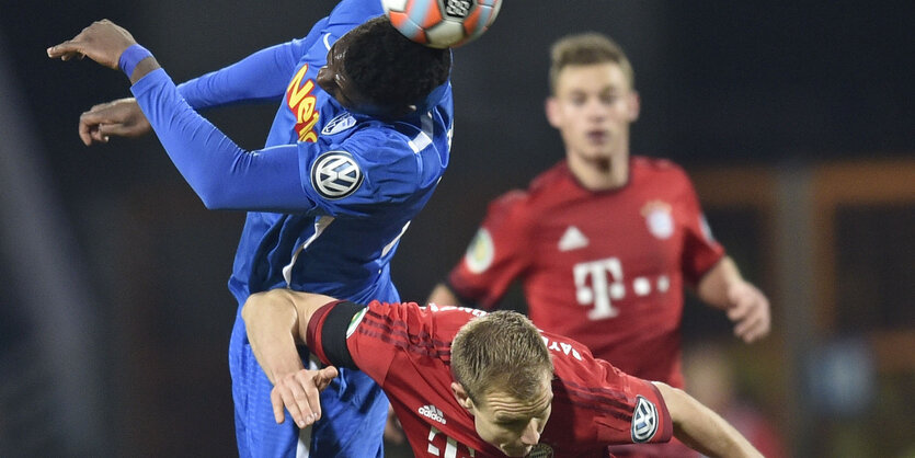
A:
<svg viewBox="0 0 915 458">
<path fill-rule="evenodd" d="M 537 327 L 682 388 L 684 282 L 695 285 L 723 255 L 677 165 L 634 157 L 625 186 L 593 192 L 562 161 L 490 204 L 448 283 L 492 308 L 521 279 Z"/>
</svg>

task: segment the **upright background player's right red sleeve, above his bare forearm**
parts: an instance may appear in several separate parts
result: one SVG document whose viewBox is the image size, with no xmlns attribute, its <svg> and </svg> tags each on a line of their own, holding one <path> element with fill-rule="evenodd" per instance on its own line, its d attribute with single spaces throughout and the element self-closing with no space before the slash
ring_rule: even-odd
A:
<svg viewBox="0 0 915 458">
<path fill-rule="evenodd" d="M 724 248 L 711 234 L 711 228 L 702 214 L 696 190 L 686 173 L 680 171 L 684 208 L 683 276 L 690 285 L 697 285 L 702 276 L 723 256 Z"/>
</svg>

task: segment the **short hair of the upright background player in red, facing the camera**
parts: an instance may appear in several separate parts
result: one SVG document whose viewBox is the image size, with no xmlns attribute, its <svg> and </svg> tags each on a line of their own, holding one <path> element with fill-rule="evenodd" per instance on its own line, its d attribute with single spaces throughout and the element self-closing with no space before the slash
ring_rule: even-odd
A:
<svg viewBox="0 0 915 458">
<path fill-rule="evenodd" d="M 618 65 L 629 87 L 636 87 L 636 72 L 632 70 L 632 64 L 629 62 L 622 47 L 608 36 L 597 32 L 587 32 L 567 35 L 558 39 L 550 48 L 550 93 L 556 95 L 559 73 L 565 67 L 605 62 Z"/>
</svg>

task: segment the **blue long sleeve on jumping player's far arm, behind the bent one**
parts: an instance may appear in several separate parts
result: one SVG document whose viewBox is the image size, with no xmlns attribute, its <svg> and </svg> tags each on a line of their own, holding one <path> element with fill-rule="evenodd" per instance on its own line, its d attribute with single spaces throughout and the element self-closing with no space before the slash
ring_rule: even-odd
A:
<svg viewBox="0 0 915 458">
<path fill-rule="evenodd" d="M 181 83 L 178 90 L 198 110 L 277 101 L 286 91 L 300 57 L 320 39 L 327 24 L 324 18 L 305 38 L 261 49 L 226 68 Z"/>
</svg>

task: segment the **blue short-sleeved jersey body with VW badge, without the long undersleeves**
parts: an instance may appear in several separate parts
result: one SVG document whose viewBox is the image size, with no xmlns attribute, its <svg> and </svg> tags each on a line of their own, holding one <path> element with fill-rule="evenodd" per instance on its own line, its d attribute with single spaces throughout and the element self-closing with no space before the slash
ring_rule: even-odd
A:
<svg viewBox="0 0 915 458">
<path fill-rule="evenodd" d="M 267 138 L 267 147 L 298 145 L 313 207 L 248 214 L 229 284 L 239 304 L 281 286 L 393 300 L 390 260 L 447 167 L 450 87 L 396 123 L 350 113 L 314 83 L 338 37 L 324 32 L 299 60 Z"/>
</svg>

